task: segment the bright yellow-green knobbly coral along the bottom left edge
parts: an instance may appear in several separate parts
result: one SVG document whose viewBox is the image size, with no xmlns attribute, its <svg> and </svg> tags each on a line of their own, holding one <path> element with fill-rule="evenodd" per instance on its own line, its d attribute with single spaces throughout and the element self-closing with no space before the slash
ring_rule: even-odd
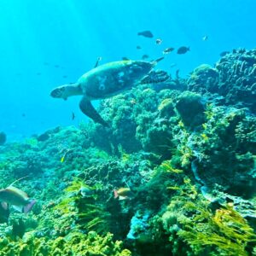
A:
<svg viewBox="0 0 256 256">
<path fill-rule="evenodd" d="M 55 240 L 30 236 L 26 241 L 0 239 L 0 256 L 131 256 L 122 249 L 121 241 L 113 241 L 113 235 L 98 236 L 95 231 L 87 235 L 76 232 Z"/>
</svg>

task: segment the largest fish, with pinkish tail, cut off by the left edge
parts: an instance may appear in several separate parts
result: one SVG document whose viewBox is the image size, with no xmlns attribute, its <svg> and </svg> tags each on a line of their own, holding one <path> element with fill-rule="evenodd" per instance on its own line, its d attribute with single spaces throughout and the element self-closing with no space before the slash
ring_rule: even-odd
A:
<svg viewBox="0 0 256 256">
<path fill-rule="evenodd" d="M 24 177 L 20 179 L 22 178 Z M 20 179 L 16 180 L 14 183 Z M 20 212 L 27 213 L 31 211 L 36 201 L 31 200 L 24 191 L 15 188 L 13 186 L 14 183 L 11 183 L 6 189 L 0 189 L 0 201 L 12 205 Z"/>
</svg>

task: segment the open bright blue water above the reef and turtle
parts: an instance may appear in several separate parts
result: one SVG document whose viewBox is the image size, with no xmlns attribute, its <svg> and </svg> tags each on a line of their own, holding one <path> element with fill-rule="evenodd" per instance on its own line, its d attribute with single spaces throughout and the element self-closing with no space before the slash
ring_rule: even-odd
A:
<svg viewBox="0 0 256 256">
<path fill-rule="evenodd" d="M 186 77 L 202 63 L 213 65 L 224 50 L 251 49 L 255 9 L 255 0 L 3 0 L 0 131 L 12 140 L 87 120 L 79 97 L 64 102 L 49 92 L 76 81 L 98 56 L 102 63 L 123 56 L 139 60 L 143 54 L 154 59 L 166 47 L 189 46 L 189 53 L 172 52 L 159 64 Z M 138 37 L 143 30 L 154 38 Z M 156 45 L 156 38 L 163 43 Z"/>
</svg>

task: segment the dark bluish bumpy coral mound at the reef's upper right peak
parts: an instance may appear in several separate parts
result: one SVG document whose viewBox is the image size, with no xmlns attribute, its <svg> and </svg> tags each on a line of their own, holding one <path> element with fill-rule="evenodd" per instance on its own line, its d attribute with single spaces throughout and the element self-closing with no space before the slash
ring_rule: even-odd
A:
<svg viewBox="0 0 256 256">
<path fill-rule="evenodd" d="M 201 94 L 216 93 L 222 102 L 256 112 L 256 49 L 234 49 L 215 65 L 195 68 L 188 89 Z"/>
</svg>

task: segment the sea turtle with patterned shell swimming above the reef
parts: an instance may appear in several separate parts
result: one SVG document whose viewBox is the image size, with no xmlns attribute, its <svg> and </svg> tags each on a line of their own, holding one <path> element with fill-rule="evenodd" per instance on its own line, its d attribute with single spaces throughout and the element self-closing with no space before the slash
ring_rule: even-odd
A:
<svg viewBox="0 0 256 256">
<path fill-rule="evenodd" d="M 90 101 L 108 98 L 140 84 L 156 61 L 113 61 L 84 73 L 74 84 L 64 84 L 51 91 L 50 96 L 67 100 L 69 96 L 83 96 L 79 107 L 96 123 L 108 126 Z M 96 63 L 97 65 L 97 63 Z"/>
</svg>

